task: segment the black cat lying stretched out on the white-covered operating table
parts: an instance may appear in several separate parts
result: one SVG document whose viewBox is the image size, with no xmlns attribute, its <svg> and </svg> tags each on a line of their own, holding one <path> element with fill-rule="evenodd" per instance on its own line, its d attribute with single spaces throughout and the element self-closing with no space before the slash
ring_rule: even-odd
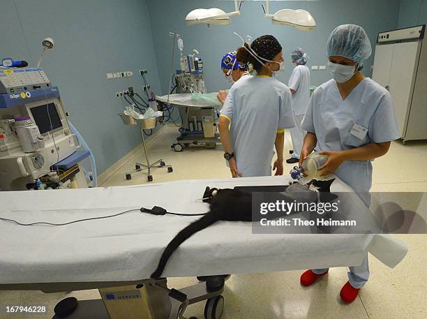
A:
<svg viewBox="0 0 427 319">
<path fill-rule="evenodd" d="M 319 191 L 321 202 L 329 202 L 338 197 L 330 193 L 330 186 L 333 181 L 334 179 L 329 181 L 313 181 L 313 185 Z M 220 189 L 209 200 L 209 212 L 202 216 L 202 218 L 197 219 L 197 221 L 190 223 L 186 228 L 183 228 L 166 246 L 158 262 L 156 271 L 151 274 L 151 278 L 160 278 L 167 260 L 169 260 L 172 253 L 196 232 L 213 225 L 217 221 L 253 221 L 251 192 L 267 191 L 269 187 L 272 191 L 277 191 L 278 187 L 284 188 L 284 191 L 280 192 L 280 197 L 283 197 L 282 199 L 287 202 L 294 202 L 296 200 L 297 202 L 310 203 L 318 202 L 319 200 L 317 192 L 298 183 L 289 186 L 249 186 L 237 187 L 237 189 Z M 265 217 L 274 219 L 284 215 L 285 213 L 278 212 L 266 215 Z"/>
</svg>

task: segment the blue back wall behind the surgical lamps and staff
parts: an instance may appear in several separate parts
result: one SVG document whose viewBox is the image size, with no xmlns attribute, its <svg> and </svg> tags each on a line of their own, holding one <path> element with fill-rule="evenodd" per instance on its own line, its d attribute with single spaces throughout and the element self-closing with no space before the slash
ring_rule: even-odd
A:
<svg viewBox="0 0 427 319">
<path fill-rule="evenodd" d="M 242 36 L 249 34 L 253 38 L 262 34 L 273 34 L 283 46 L 286 61 L 286 71 L 278 78 L 287 83 L 292 66 L 289 54 L 294 47 L 303 47 L 310 57 L 308 64 L 326 65 L 325 43 L 331 31 L 338 24 L 360 24 L 366 29 L 375 48 L 375 40 L 379 31 L 395 29 L 400 10 L 399 0 L 321 0 L 321 1 L 271 1 L 270 13 L 282 8 L 302 8 L 308 10 L 317 22 L 317 29 L 311 32 L 299 31 L 291 27 L 276 26 L 264 18 L 261 1 L 246 1 L 241 8 L 239 17 L 232 17 L 227 26 L 211 26 L 205 24 L 186 26 L 184 20 L 188 12 L 195 8 L 222 8 L 226 12 L 234 10 L 233 1 L 216 0 L 156 0 L 149 1 L 151 27 L 158 57 L 158 71 L 162 91 L 167 93 L 168 75 L 170 74 L 170 58 L 172 38 L 170 31 L 181 34 L 184 52 L 190 53 L 197 48 L 204 59 L 206 84 L 208 91 L 217 91 L 229 87 L 220 72 L 220 57 L 225 52 L 235 50 L 241 45 L 241 40 L 234 36 L 236 31 Z M 175 61 L 179 54 L 175 53 Z M 373 56 L 366 61 L 364 73 L 370 76 L 370 65 Z M 178 66 L 178 64 L 176 64 Z M 329 80 L 328 71 L 312 71 L 313 85 Z"/>
</svg>

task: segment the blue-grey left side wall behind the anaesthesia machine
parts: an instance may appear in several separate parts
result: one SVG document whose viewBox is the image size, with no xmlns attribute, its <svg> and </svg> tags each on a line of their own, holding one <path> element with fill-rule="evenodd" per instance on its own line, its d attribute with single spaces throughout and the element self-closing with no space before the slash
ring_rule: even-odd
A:
<svg viewBox="0 0 427 319">
<path fill-rule="evenodd" d="M 54 50 L 45 53 L 42 67 L 91 147 L 98 173 L 103 172 L 141 142 L 139 131 L 117 116 L 124 104 L 114 92 L 131 85 L 141 91 L 142 68 L 149 71 L 151 87 L 160 90 L 147 1 L 0 2 L 0 57 L 34 66 L 43 38 L 54 38 Z M 128 70 L 133 77 L 106 78 L 107 72 Z"/>
</svg>

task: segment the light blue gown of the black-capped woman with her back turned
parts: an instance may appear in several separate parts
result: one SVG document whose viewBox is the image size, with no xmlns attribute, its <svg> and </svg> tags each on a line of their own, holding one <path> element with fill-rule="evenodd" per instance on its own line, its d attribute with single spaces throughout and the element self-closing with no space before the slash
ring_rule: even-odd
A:
<svg viewBox="0 0 427 319">
<path fill-rule="evenodd" d="M 234 83 L 221 117 L 243 177 L 271 175 L 276 134 L 294 126 L 290 89 L 274 77 L 245 77 Z"/>
</svg>

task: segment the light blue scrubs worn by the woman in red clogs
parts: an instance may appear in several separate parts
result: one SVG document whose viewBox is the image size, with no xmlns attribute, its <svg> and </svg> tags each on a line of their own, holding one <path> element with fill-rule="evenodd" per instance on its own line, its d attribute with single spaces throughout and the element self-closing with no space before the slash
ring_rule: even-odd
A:
<svg viewBox="0 0 427 319">
<path fill-rule="evenodd" d="M 343 151 L 400 138 L 389 92 L 368 77 L 344 101 L 335 80 L 322 84 L 311 96 L 301 126 L 316 135 L 316 149 L 319 151 Z M 365 129 L 363 137 L 354 133 L 354 128 L 358 131 Z M 352 187 L 369 207 L 372 184 L 370 161 L 345 161 L 335 175 Z M 326 271 L 327 268 L 313 269 L 315 274 Z M 361 288 L 368 278 L 366 255 L 361 265 L 350 267 L 348 279 L 354 288 Z"/>
</svg>

